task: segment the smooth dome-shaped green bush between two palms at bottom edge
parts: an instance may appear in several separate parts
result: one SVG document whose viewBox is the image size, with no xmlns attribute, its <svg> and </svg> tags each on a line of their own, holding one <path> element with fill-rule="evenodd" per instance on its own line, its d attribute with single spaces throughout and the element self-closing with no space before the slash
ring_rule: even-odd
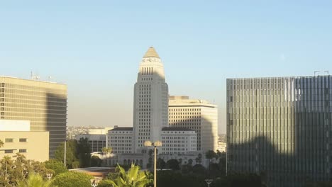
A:
<svg viewBox="0 0 332 187">
<path fill-rule="evenodd" d="M 91 187 L 90 179 L 94 179 L 94 177 L 84 173 L 69 171 L 55 176 L 52 183 L 61 187 Z"/>
</svg>

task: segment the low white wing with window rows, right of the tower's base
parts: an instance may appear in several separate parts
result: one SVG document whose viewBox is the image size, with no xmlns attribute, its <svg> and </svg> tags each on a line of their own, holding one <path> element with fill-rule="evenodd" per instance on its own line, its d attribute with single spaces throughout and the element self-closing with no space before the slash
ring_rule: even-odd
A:
<svg viewBox="0 0 332 187">
<path fill-rule="evenodd" d="M 197 133 L 187 128 L 162 128 L 163 154 L 186 154 L 197 150 Z"/>
</svg>

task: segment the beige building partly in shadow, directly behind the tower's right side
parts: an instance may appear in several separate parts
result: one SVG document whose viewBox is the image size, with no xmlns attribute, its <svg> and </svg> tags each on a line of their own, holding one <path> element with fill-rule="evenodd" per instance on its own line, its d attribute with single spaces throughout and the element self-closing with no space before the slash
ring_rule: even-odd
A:
<svg viewBox="0 0 332 187">
<path fill-rule="evenodd" d="M 188 96 L 170 96 L 170 127 L 189 128 L 197 132 L 197 151 L 216 151 L 218 147 L 218 108 L 204 100 Z"/>
</svg>

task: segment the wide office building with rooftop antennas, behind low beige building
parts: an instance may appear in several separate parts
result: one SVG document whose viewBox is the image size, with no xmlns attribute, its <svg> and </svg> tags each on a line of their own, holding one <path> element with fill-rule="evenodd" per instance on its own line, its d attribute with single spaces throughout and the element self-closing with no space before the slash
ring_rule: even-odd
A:
<svg viewBox="0 0 332 187">
<path fill-rule="evenodd" d="M 50 132 L 50 157 L 66 138 L 67 85 L 0 77 L 0 119 L 28 120 L 32 131 Z"/>
</svg>

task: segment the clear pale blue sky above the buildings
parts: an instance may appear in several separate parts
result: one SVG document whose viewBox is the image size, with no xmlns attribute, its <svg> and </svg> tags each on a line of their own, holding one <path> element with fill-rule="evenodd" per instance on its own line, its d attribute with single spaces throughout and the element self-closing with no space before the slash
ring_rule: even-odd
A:
<svg viewBox="0 0 332 187">
<path fill-rule="evenodd" d="M 226 78 L 332 73 L 332 1 L 1 1 L 0 74 L 68 85 L 68 125 L 132 125 L 153 45 L 170 94 L 218 104 Z"/>
</svg>

